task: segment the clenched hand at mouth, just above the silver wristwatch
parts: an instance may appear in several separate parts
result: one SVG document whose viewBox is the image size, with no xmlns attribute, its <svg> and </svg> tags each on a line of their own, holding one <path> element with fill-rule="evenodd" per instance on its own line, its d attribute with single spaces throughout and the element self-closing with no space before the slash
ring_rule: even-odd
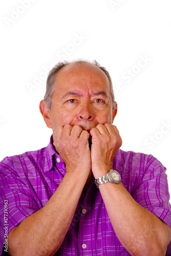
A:
<svg viewBox="0 0 171 256">
<path fill-rule="evenodd" d="M 90 131 L 90 135 L 92 172 L 97 179 L 113 168 L 113 159 L 122 145 L 122 139 L 117 127 L 109 123 L 98 124 Z"/>
</svg>

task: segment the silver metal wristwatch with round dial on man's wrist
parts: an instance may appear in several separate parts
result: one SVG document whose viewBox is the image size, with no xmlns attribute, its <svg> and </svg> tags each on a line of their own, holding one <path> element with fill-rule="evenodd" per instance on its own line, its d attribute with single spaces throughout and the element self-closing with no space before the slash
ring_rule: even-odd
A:
<svg viewBox="0 0 171 256">
<path fill-rule="evenodd" d="M 116 170 L 110 170 L 108 174 L 95 180 L 95 184 L 97 187 L 106 182 L 118 184 L 119 182 L 121 182 L 121 176 L 118 172 L 116 172 Z"/>
</svg>

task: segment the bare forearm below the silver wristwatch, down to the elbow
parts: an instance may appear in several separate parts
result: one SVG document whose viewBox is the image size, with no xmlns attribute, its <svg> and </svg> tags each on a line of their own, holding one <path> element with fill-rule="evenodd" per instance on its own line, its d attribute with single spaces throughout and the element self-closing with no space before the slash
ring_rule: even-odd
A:
<svg viewBox="0 0 171 256">
<path fill-rule="evenodd" d="M 165 255 L 170 228 L 154 214 L 141 207 L 122 183 L 99 186 L 115 233 L 132 255 Z"/>
</svg>

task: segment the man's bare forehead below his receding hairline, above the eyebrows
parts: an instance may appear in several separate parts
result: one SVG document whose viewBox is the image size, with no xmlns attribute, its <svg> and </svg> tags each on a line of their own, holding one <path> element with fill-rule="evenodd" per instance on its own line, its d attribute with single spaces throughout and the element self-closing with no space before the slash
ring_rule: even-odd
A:
<svg viewBox="0 0 171 256">
<path fill-rule="evenodd" d="M 82 90 L 100 88 L 110 91 L 110 82 L 105 73 L 89 62 L 81 64 L 71 63 L 61 68 L 55 76 L 58 88 L 63 88 L 70 84 L 70 89 L 80 87 Z"/>
</svg>

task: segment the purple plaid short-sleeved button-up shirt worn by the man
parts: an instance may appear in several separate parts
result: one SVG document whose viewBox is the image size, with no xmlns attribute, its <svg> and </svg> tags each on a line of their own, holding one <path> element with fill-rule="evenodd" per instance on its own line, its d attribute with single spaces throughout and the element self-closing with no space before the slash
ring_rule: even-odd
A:
<svg viewBox="0 0 171 256">
<path fill-rule="evenodd" d="M 171 227 L 166 168 L 152 155 L 122 150 L 115 156 L 113 168 L 132 197 Z M 9 233 L 42 208 L 65 173 L 65 164 L 53 148 L 52 137 L 47 147 L 6 157 L 0 163 L 0 255 L 5 248 L 6 230 Z M 4 202 L 8 203 L 8 220 L 4 218 Z M 94 181 L 86 196 L 82 192 L 69 231 L 55 255 L 130 255 L 115 234 Z"/>
</svg>

